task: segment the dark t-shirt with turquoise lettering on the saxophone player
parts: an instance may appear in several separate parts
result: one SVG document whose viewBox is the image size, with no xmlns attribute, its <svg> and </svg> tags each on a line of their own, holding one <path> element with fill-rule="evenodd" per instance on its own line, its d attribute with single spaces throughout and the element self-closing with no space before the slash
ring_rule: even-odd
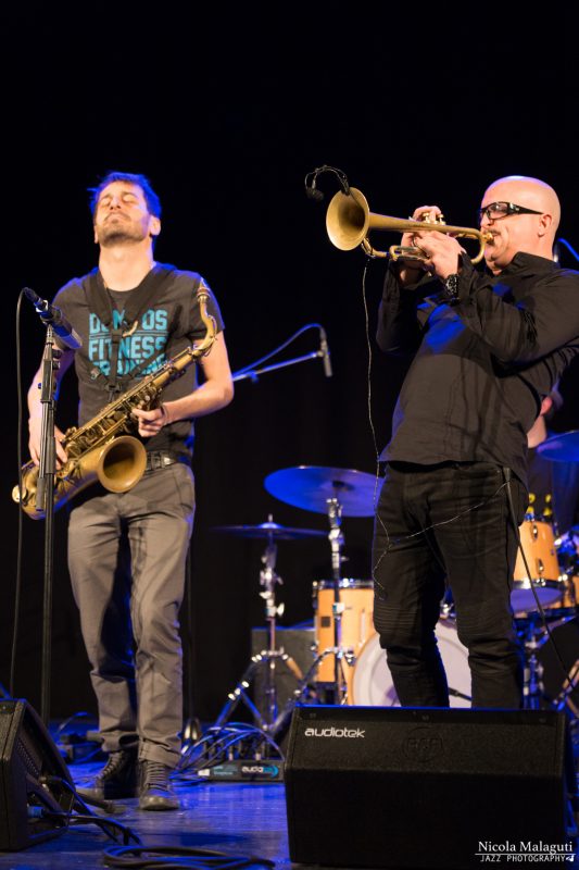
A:
<svg viewBox="0 0 579 870">
<path fill-rule="evenodd" d="M 121 339 L 117 377 L 123 391 L 130 388 L 138 380 L 155 372 L 167 359 L 175 357 L 206 334 L 197 297 L 201 276 L 197 272 L 184 272 L 173 266 L 162 266 L 162 269 L 172 271 L 166 279 L 160 283 L 158 293 L 147 310 L 140 313 L 135 330 Z M 91 310 L 88 287 L 93 274 L 73 278 L 54 298 L 54 304 L 62 309 L 83 339 L 83 347 L 75 352 L 80 425 L 92 420 L 109 402 L 111 330 L 100 320 L 98 313 Z M 203 284 L 207 287 L 204 281 Z M 109 291 L 113 300 L 113 327 L 123 321 L 129 298 L 138 295 L 141 288 L 142 283 L 127 293 Z M 106 290 L 102 288 L 102 293 Z M 223 330 L 219 308 L 211 291 L 207 311 L 215 318 L 217 330 Z M 147 364 L 138 373 L 137 378 L 131 377 L 131 371 L 140 366 L 143 361 L 147 361 Z M 196 387 L 197 373 L 196 365 L 192 364 L 181 377 L 165 387 L 162 394 L 163 400 L 181 398 L 192 393 Z M 190 456 L 193 444 L 192 421 L 179 420 L 171 423 L 158 435 L 143 439 L 143 443 L 148 450 L 173 450 Z"/>
</svg>

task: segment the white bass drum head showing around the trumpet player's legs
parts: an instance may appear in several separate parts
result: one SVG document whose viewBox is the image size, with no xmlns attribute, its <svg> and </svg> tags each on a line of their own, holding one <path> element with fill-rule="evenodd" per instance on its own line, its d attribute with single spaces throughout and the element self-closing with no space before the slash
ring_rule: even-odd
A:
<svg viewBox="0 0 579 870">
<path fill-rule="evenodd" d="M 451 707 L 470 707 L 470 670 L 468 651 L 458 641 L 454 622 L 439 622 L 436 629 L 438 646 L 446 679 Z M 378 635 L 364 645 L 354 666 L 351 704 L 364 707 L 400 707 L 392 676 L 386 663 L 386 652 Z"/>
</svg>

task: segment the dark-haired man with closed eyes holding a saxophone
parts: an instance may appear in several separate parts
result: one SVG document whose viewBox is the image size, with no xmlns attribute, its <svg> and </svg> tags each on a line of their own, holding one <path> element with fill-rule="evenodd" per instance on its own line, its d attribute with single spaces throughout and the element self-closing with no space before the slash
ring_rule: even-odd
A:
<svg viewBox="0 0 579 870">
<path fill-rule="evenodd" d="M 63 349 L 59 380 L 75 363 L 79 423 L 93 418 L 196 339 L 205 326 L 194 272 L 156 263 L 161 204 L 143 175 L 109 173 L 91 192 L 98 268 L 73 278 L 55 303 L 83 339 Z M 206 285 L 204 285 L 206 288 Z M 87 796 L 139 797 L 144 810 L 177 809 L 169 773 L 179 760 L 182 726 L 178 610 L 192 531 L 192 421 L 231 401 L 234 387 L 219 308 L 207 309 L 217 336 L 196 366 L 171 383 L 152 410 L 135 409 L 147 470 L 127 493 L 91 487 L 73 504 L 68 568 L 91 664 L 106 765 Z M 38 463 L 41 409 L 38 375 L 28 393 L 30 457 Z M 56 455 L 66 461 L 62 433 Z"/>
</svg>

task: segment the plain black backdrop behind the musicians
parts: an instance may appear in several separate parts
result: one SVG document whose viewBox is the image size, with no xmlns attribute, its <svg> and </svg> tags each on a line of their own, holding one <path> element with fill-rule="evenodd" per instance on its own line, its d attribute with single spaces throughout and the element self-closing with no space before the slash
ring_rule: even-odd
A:
<svg viewBox="0 0 579 870">
<path fill-rule="evenodd" d="M 388 15 L 386 14 L 388 12 Z M 439 203 L 473 226 L 484 188 L 506 174 L 544 178 L 559 192 L 561 235 L 579 247 L 577 85 L 561 21 L 506 21 L 487 10 L 465 20 L 451 7 L 348 14 L 91 10 L 86 24 L 40 5 L 5 23 L 1 111 L 4 212 L 4 421 L 0 681 L 9 680 L 18 510 L 16 347 L 21 288 L 52 297 L 96 262 L 86 188 L 108 170 L 143 172 L 163 202 L 159 260 L 201 272 L 226 321 L 231 368 L 316 321 L 328 334 L 333 377 L 319 361 L 237 385 L 231 406 L 197 424 L 198 514 L 192 548 L 196 712 L 213 719 L 244 668 L 251 626 L 263 624 L 261 542 L 212 532 L 257 524 L 327 529 L 324 515 L 264 489 L 278 469 L 319 464 L 374 473 L 368 421 L 368 346 L 383 264 L 366 279 L 358 251 L 335 249 L 328 202 L 312 203 L 303 179 L 323 163 L 343 170 L 373 211 L 407 216 Z M 210 16 L 209 20 L 206 16 Z M 567 58 L 569 58 L 567 62 Z M 330 176 L 319 181 L 328 195 Z M 394 239 L 375 237 L 387 247 Z M 575 266 L 568 254 L 563 262 Z M 26 303 L 27 304 L 27 303 Z M 27 386 L 43 330 L 22 313 Z M 317 349 L 309 332 L 286 357 Z M 379 449 L 403 377 L 400 362 L 372 364 Z M 58 421 L 75 417 L 67 376 Z M 563 382 L 555 427 L 579 427 L 578 374 Z M 65 563 L 65 513 L 55 540 L 52 713 L 93 709 Z M 345 518 L 344 574 L 369 576 L 372 520 Z M 39 703 L 43 527 L 25 518 L 23 605 L 15 692 Z M 280 543 L 281 625 L 312 619 L 312 583 L 330 576 L 326 540 Z"/>
</svg>

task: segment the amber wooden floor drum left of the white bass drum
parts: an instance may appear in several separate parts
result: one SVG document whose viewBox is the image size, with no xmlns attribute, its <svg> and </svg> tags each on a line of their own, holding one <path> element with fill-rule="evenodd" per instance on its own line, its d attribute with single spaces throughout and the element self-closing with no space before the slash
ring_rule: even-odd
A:
<svg viewBox="0 0 579 870">
<path fill-rule="evenodd" d="M 357 656 L 368 637 L 375 634 L 374 612 L 374 584 L 372 580 L 339 581 L 340 604 L 344 609 L 341 620 L 341 644 L 344 649 L 351 649 Z M 335 646 L 333 638 L 333 581 L 320 580 L 314 583 L 314 626 L 317 654 Z M 325 656 L 319 662 L 315 680 L 318 683 L 332 683 L 335 678 L 335 656 L 332 652 Z M 350 697 L 350 684 L 353 666 L 343 660 L 344 679 Z"/>
</svg>

